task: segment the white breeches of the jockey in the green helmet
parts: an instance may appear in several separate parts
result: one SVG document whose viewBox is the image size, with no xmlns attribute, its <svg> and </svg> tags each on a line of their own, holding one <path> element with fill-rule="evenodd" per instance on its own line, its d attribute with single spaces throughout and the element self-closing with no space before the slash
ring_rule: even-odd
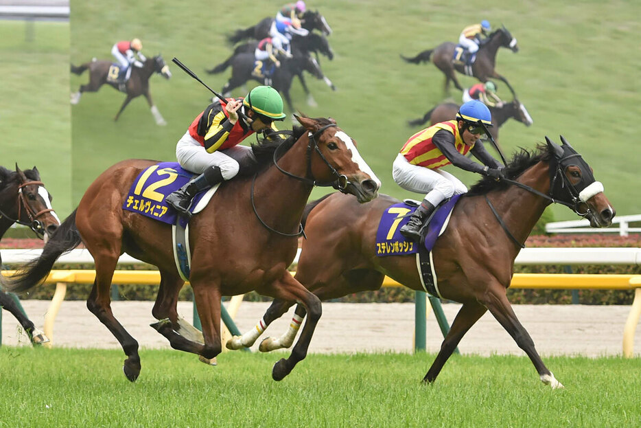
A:
<svg viewBox="0 0 641 428">
<path fill-rule="evenodd" d="M 232 179 L 238 174 L 240 165 L 238 161 L 229 157 L 225 153 L 240 153 L 245 150 L 251 150 L 247 146 L 233 146 L 224 150 L 216 150 L 214 153 L 207 153 L 205 147 L 189 135 L 189 131 L 178 140 L 176 144 L 176 159 L 178 164 L 191 172 L 202 174 L 210 166 L 218 166 L 225 180 Z"/>
</svg>

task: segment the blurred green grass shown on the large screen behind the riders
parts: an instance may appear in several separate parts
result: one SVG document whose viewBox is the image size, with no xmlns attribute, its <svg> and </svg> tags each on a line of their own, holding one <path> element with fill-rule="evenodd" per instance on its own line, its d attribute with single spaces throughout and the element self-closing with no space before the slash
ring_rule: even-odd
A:
<svg viewBox="0 0 641 428">
<path fill-rule="evenodd" d="M 117 4 L 117 7 L 116 7 Z M 137 36 L 143 52 L 176 56 L 214 89 L 229 77 L 209 76 L 205 67 L 222 62 L 231 49 L 224 36 L 238 27 L 255 24 L 277 10 L 281 1 L 235 3 L 195 1 L 186 8 L 170 1 L 117 0 L 115 3 L 71 1 L 71 61 L 82 63 L 93 56 L 110 58 L 111 45 Z M 589 161 L 597 179 L 619 214 L 641 212 L 641 199 L 630 194 L 636 182 L 641 154 L 630 150 L 638 133 L 638 69 L 641 58 L 637 40 L 641 3 L 632 1 L 583 1 L 560 4 L 542 0 L 511 2 L 490 0 L 478 19 L 503 23 L 517 38 L 520 52 L 500 49 L 497 69 L 506 76 L 527 106 L 535 123 L 526 128 L 515 121 L 501 129 L 501 143 L 508 153 L 517 147 L 533 148 L 549 135 L 566 136 Z M 294 82 L 297 109 L 312 116 L 332 116 L 360 144 L 366 160 L 383 181 L 382 192 L 398 197 L 415 196 L 391 179 L 391 164 L 401 145 L 417 131 L 406 121 L 418 117 L 443 95 L 443 75 L 431 64 L 404 63 L 399 54 L 413 55 L 458 37 L 475 14 L 469 3 L 443 4 L 399 0 L 344 2 L 313 1 L 331 25 L 329 37 L 336 52 L 324 59 L 325 74 L 338 87 L 332 92 L 323 82 L 310 81 L 318 107 L 307 106 L 302 89 Z M 209 91 L 177 67 L 165 81 L 150 82 L 154 100 L 168 125 L 156 126 L 146 102 L 134 100 L 118 123 L 115 115 L 123 95 L 110 88 L 87 93 L 73 106 L 73 201 L 110 164 L 128 157 L 174 159 L 174 148 L 185 128 L 207 104 Z M 474 80 L 460 76 L 463 85 Z M 71 76 L 71 87 L 86 76 Z M 508 98 L 506 88 L 499 93 Z M 235 95 L 244 95 L 236 91 Z M 456 90 L 452 95 L 458 100 Z M 285 127 L 290 121 L 285 122 Z M 476 176 L 456 172 L 466 183 Z M 312 198 L 325 194 L 317 189 Z M 557 220 L 576 218 L 564 207 L 555 207 Z"/>
</svg>

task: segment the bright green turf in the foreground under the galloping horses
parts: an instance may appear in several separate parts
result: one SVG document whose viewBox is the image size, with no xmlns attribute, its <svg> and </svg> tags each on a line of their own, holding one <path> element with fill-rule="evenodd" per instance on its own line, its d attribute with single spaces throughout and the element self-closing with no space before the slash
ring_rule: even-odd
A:
<svg viewBox="0 0 641 428">
<path fill-rule="evenodd" d="M 313 354 L 283 381 L 278 354 L 222 354 L 208 368 L 143 350 L 129 383 L 110 350 L 0 348 L 0 427 L 638 427 L 641 361 L 454 356 L 434 385 L 433 354 Z"/>
</svg>

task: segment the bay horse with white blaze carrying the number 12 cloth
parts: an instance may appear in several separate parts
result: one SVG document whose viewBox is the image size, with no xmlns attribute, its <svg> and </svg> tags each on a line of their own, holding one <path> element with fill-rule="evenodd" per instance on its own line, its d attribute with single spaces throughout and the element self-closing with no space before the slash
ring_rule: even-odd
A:
<svg viewBox="0 0 641 428">
<path fill-rule="evenodd" d="M 138 342 L 110 308 L 113 271 L 123 252 L 154 264 L 161 273 L 152 310 L 160 321 L 152 326 L 172 348 L 206 359 L 221 351 L 223 295 L 255 290 L 281 300 L 300 301 L 310 316 L 290 358 L 281 359 L 273 368 L 274 379 L 283 379 L 305 358 L 321 313 L 318 297 L 287 270 L 296 256 L 301 217 L 312 188 L 333 185 L 365 203 L 377 196 L 380 186 L 353 139 L 336 122 L 305 116 L 296 119 L 303 126 L 294 128 L 293 135 L 284 141 L 264 140 L 253 146 L 255 165 L 222 183 L 209 205 L 189 221 L 189 282 L 205 343 L 188 339 L 188 330 L 183 336 L 176 313 L 184 282 L 174 262 L 171 225 L 122 208 L 132 183 L 155 161 L 130 159 L 103 172 L 45 245 L 42 256 L 10 281 L 0 279 L 13 291 L 30 289 L 45 278 L 60 254 L 84 243 L 96 271 L 87 307 L 121 343 L 127 357 L 124 372 L 130 381 L 135 381 L 141 370 Z"/>
</svg>

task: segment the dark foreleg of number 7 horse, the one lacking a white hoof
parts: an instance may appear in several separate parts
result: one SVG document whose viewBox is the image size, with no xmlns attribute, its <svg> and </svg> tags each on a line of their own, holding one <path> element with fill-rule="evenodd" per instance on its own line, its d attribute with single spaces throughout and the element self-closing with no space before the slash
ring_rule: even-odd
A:
<svg viewBox="0 0 641 428">
<path fill-rule="evenodd" d="M 450 358 L 452 352 L 454 352 L 456 346 L 458 346 L 458 342 L 463 339 L 467 330 L 469 330 L 471 326 L 474 326 L 485 311 L 487 311 L 487 308 L 476 302 L 463 304 L 456 318 L 454 318 L 450 332 L 447 333 L 445 339 L 443 339 L 441 350 L 439 350 L 439 354 L 436 355 L 436 359 L 434 359 L 434 362 L 430 366 L 430 370 L 428 370 L 428 373 L 423 378 L 423 382 L 432 383 L 436 380 L 436 376 L 439 376 L 443 365 L 445 365 L 447 359 Z"/>
</svg>

